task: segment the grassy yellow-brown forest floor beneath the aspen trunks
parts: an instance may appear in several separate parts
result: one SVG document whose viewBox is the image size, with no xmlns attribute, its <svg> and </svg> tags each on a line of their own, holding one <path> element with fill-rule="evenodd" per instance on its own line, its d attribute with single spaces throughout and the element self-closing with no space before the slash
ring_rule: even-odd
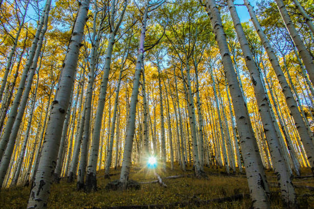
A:
<svg viewBox="0 0 314 209">
<path fill-rule="evenodd" d="M 167 172 L 157 170 L 167 187 L 160 183 L 141 184 L 140 190 L 112 191 L 105 189 L 108 182 L 119 179 L 119 171 L 111 170 L 111 179 L 104 178 L 104 171 L 97 173 L 98 190 L 92 193 L 76 191 L 76 184 L 62 179 L 54 183 L 48 201 L 48 208 L 249 208 L 249 190 L 243 174 L 226 175 L 223 169 L 205 168 L 208 178 L 193 177 L 192 166 L 183 173 L 179 166 Z M 271 208 L 284 208 L 276 186 L 277 179 L 272 172 L 266 172 L 272 193 Z M 185 175 L 181 178 L 164 179 L 168 176 Z M 302 170 L 302 176 L 310 176 L 309 169 Z M 130 179 L 138 182 L 157 180 L 149 170 L 132 168 Z M 314 178 L 295 178 L 300 208 L 314 208 Z M 26 208 L 30 186 L 3 189 L 0 192 L 0 208 Z M 230 197 L 230 198 L 228 198 Z M 207 201 L 204 201 L 207 200 Z M 208 201 L 209 200 L 209 201 Z M 137 206 L 136 206 L 137 205 Z M 142 206 L 140 206 L 142 205 Z M 143 206 L 146 205 L 146 206 Z M 150 206 L 147 206 L 150 205 Z M 152 207 L 155 205 L 155 207 Z M 123 207 L 125 206 L 125 207 Z"/>
</svg>

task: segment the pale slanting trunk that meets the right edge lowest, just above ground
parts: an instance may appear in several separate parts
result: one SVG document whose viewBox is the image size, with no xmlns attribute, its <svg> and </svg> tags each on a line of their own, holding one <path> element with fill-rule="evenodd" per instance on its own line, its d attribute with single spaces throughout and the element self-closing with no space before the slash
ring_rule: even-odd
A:
<svg viewBox="0 0 314 209">
<path fill-rule="evenodd" d="M 263 46 L 264 46 L 264 48 L 265 48 L 265 50 L 267 52 L 267 55 L 269 57 L 271 66 L 272 66 L 274 72 L 277 75 L 277 78 L 279 80 L 280 86 L 282 88 L 282 92 L 283 92 L 283 94 L 285 96 L 285 99 L 286 99 L 286 102 L 287 102 L 287 105 L 288 105 L 288 108 L 289 108 L 289 111 L 290 111 L 290 114 L 293 117 L 293 120 L 295 122 L 295 126 L 297 127 L 299 136 L 300 136 L 300 138 L 302 140 L 302 143 L 303 143 L 303 146 L 304 146 L 304 148 L 306 150 L 306 154 L 307 154 L 308 160 L 310 162 L 312 173 L 314 173 L 314 145 L 313 145 L 313 143 L 311 141 L 310 135 L 308 134 L 308 130 L 307 130 L 306 124 L 305 124 L 305 122 L 304 122 L 304 120 L 303 120 L 303 118 L 301 116 L 301 113 L 299 112 L 297 102 L 293 98 L 291 89 L 290 89 L 290 87 L 288 85 L 288 82 L 287 82 L 287 80 L 286 80 L 286 78 L 285 78 L 285 76 L 284 76 L 284 74 L 283 74 L 283 72 L 281 70 L 280 65 L 279 65 L 278 58 L 274 54 L 274 51 L 271 48 L 271 46 L 269 44 L 269 41 L 268 41 L 266 35 L 264 34 L 264 32 L 262 30 L 262 27 L 260 26 L 260 24 L 258 22 L 258 19 L 257 19 L 256 15 L 255 15 L 255 13 L 253 11 L 252 6 L 249 4 L 248 0 L 244 0 L 244 3 L 245 3 L 245 5 L 248 8 L 248 11 L 250 13 L 250 17 L 252 19 L 254 27 L 256 28 L 256 30 L 258 32 L 258 35 L 260 36 L 260 38 L 262 40 Z M 282 6 L 284 7 L 284 5 L 282 5 Z M 285 8 L 284 8 L 284 10 L 285 10 Z M 299 50 L 299 53 L 300 53 L 300 50 Z M 301 55 L 301 53 L 300 53 L 300 55 Z"/>
</svg>

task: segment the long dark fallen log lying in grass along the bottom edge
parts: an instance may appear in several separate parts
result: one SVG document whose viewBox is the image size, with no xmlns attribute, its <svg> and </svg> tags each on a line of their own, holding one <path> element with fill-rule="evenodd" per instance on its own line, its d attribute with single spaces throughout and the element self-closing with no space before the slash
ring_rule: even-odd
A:
<svg viewBox="0 0 314 209">
<path fill-rule="evenodd" d="M 210 204 L 212 202 L 232 202 L 242 200 L 243 198 L 249 198 L 248 194 L 237 194 L 232 195 L 230 197 L 222 197 L 222 198 L 214 198 L 210 200 L 189 200 L 189 201 L 181 201 L 181 202 L 173 202 L 169 204 L 150 204 L 150 205 L 122 205 L 122 206 L 105 206 L 105 207 L 92 207 L 92 209 L 148 209 L 148 208 L 175 208 L 175 207 L 185 207 L 188 205 L 192 205 L 193 207 L 200 207 L 201 205 Z"/>
</svg>

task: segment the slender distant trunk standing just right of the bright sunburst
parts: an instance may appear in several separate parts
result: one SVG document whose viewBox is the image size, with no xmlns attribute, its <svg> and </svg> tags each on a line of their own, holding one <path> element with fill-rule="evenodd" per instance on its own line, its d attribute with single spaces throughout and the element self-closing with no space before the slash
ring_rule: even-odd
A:
<svg viewBox="0 0 314 209">
<path fill-rule="evenodd" d="M 161 123 L 161 159 L 163 163 L 163 169 L 166 171 L 166 144 L 165 144 L 165 124 L 164 124 L 164 105 L 163 105 L 163 94 L 162 94 L 162 86 L 161 86 L 161 79 L 160 79 L 160 66 L 159 60 L 158 62 L 158 85 L 159 85 L 159 105 L 160 105 L 160 123 Z"/>
</svg>

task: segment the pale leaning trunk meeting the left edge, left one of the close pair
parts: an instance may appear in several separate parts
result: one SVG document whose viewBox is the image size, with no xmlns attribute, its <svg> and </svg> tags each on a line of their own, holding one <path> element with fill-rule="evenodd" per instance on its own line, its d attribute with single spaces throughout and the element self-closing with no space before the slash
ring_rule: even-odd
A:
<svg viewBox="0 0 314 209">
<path fill-rule="evenodd" d="M 11 131 L 12 131 L 12 127 L 13 127 L 13 124 L 14 124 L 14 121 L 15 121 L 15 118 L 16 118 L 16 115 L 17 115 L 17 109 L 18 109 L 18 106 L 19 106 L 19 102 L 20 102 L 20 100 L 22 98 L 22 94 L 23 94 L 23 91 L 24 91 L 24 88 L 25 88 L 26 79 L 29 80 L 28 72 L 29 72 L 29 70 L 30 70 L 30 68 L 32 66 L 32 62 L 33 62 L 33 58 L 35 56 L 35 52 L 36 52 L 36 49 L 37 49 L 38 41 L 40 40 L 41 36 L 44 35 L 44 34 L 42 34 L 42 32 L 43 32 L 42 29 L 43 29 L 43 26 L 44 26 L 44 23 L 45 23 L 46 19 L 48 21 L 48 14 L 49 14 L 49 10 L 50 10 L 50 4 L 51 4 L 51 0 L 47 0 L 45 8 L 44 8 L 43 13 L 42 13 L 42 16 L 40 18 L 40 22 L 39 22 L 39 24 L 37 26 L 37 30 L 36 30 L 36 33 L 35 33 L 35 36 L 34 36 L 34 39 L 33 39 L 33 43 L 32 43 L 32 46 L 31 46 L 31 49 L 30 49 L 30 52 L 29 52 L 29 56 L 28 56 L 26 65 L 24 67 L 24 70 L 23 70 L 23 73 L 22 73 L 22 76 L 21 76 L 21 80 L 19 81 L 19 86 L 18 86 L 17 92 L 15 94 L 15 97 L 14 97 L 14 100 L 13 100 L 13 103 L 12 103 L 12 106 L 11 106 L 11 109 L 10 109 L 10 114 L 9 114 L 9 117 L 8 117 L 8 121 L 6 123 L 6 128 L 5 128 L 4 134 L 2 135 L 1 141 L 0 141 L 0 158 L 3 157 L 3 154 L 5 152 L 5 149 L 7 147 L 8 141 L 9 141 L 9 137 L 10 137 L 10 134 L 11 134 Z M 36 60 L 36 62 L 37 62 L 37 60 Z"/>
</svg>

